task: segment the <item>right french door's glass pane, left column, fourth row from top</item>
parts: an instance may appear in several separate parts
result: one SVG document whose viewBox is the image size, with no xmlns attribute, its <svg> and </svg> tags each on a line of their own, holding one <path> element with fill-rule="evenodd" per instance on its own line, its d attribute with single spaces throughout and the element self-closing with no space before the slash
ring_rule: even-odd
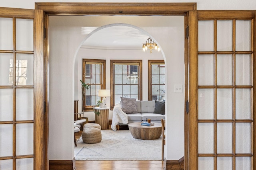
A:
<svg viewBox="0 0 256 170">
<path fill-rule="evenodd" d="M 213 123 L 198 123 L 198 153 L 213 153 L 213 137 Z"/>
</svg>

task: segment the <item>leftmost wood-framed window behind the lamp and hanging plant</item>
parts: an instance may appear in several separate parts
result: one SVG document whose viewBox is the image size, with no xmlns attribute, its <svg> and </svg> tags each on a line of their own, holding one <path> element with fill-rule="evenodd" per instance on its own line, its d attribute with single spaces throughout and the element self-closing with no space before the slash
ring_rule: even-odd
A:
<svg viewBox="0 0 256 170">
<path fill-rule="evenodd" d="M 83 92 L 83 111 L 92 111 L 97 101 L 101 100 L 98 90 L 106 89 L 106 60 L 83 59 L 82 75 L 83 82 L 90 85 L 90 88 Z"/>
</svg>

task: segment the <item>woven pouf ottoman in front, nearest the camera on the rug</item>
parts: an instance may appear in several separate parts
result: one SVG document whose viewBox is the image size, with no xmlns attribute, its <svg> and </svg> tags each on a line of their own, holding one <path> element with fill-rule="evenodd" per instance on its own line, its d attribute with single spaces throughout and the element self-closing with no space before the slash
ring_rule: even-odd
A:
<svg viewBox="0 0 256 170">
<path fill-rule="evenodd" d="M 82 132 L 82 139 L 84 143 L 99 143 L 102 139 L 101 131 L 96 127 L 85 128 Z"/>
</svg>

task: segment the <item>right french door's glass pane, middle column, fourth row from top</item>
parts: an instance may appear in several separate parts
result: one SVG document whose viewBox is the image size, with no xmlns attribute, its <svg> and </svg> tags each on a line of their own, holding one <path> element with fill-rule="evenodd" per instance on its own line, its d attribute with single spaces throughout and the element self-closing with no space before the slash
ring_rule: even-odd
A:
<svg viewBox="0 0 256 170">
<path fill-rule="evenodd" d="M 232 153 L 232 123 L 217 123 L 217 153 Z"/>
</svg>

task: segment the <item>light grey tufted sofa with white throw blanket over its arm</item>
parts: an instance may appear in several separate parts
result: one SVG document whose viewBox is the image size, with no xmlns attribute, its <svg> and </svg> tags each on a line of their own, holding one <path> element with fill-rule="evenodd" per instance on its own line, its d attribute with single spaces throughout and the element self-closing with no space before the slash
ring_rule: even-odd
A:
<svg viewBox="0 0 256 170">
<path fill-rule="evenodd" d="M 119 129 L 119 125 L 128 125 L 133 122 L 143 122 L 151 119 L 151 122 L 161 123 L 161 119 L 165 119 L 165 102 L 158 101 L 136 101 L 136 109 L 130 113 L 129 109 L 134 106 L 128 106 L 128 110 L 123 109 L 122 100 L 116 104 L 113 109 L 112 130 Z"/>
</svg>

